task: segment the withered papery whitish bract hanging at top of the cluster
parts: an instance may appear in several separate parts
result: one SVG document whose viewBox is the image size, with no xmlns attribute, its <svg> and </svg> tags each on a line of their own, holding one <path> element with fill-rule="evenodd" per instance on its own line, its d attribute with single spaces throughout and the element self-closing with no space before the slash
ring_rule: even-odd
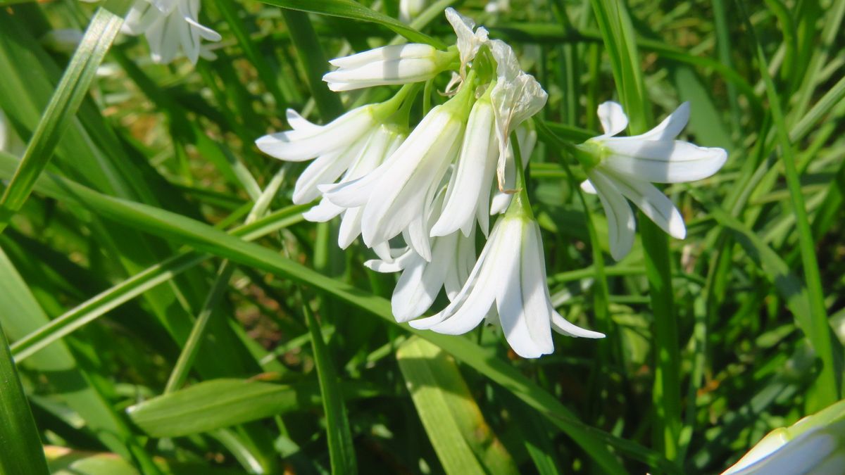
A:
<svg viewBox="0 0 845 475">
<path fill-rule="evenodd" d="M 497 75 L 496 85 L 490 95 L 496 114 L 496 138 L 499 139 L 496 176 L 499 177 L 499 188 L 504 191 L 510 189 L 505 186 L 504 177 L 510 133 L 546 105 L 548 94 L 542 90 L 534 76 L 521 70 L 510 46 L 499 40 L 488 43 L 496 60 Z"/>
</svg>

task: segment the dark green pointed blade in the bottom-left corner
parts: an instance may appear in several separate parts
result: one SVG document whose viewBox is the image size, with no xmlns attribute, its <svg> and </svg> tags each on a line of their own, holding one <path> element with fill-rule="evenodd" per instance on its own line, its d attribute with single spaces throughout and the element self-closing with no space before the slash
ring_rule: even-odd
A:
<svg viewBox="0 0 845 475">
<path fill-rule="evenodd" d="M 5 454 L 0 456 L 0 472 L 50 473 L 3 325 L 0 325 L 0 446 Z"/>
</svg>

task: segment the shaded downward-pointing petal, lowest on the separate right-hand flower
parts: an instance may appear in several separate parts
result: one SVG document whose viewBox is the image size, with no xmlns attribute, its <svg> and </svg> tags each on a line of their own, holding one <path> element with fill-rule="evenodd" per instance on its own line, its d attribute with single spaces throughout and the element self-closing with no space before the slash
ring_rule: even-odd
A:
<svg viewBox="0 0 845 475">
<path fill-rule="evenodd" d="M 604 214 L 608 216 L 608 239 L 610 255 L 622 260 L 634 245 L 636 223 L 634 213 L 622 192 L 602 172 L 593 169 L 588 173 L 590 181 L 596 187 L 598 199 L 602 202 Z"/>
</svg>

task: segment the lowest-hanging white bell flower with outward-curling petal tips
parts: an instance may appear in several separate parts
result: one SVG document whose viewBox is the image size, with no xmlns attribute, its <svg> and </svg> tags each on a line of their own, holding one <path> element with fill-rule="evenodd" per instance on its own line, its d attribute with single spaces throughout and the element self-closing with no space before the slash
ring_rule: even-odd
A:
<svg viewBox="0 0 845 475">
<path fill-rule="evenodd" d="M 515 203 L 511 210 L 521 205 Z M 510 347 L 523 358 L 553 352 L 552 329 L 569 336 L 604 336 L 571 324 L 554 310 L 546 285 L 540 227 L 532 218 L 510 210 L 496 222 L 464 287 L 449 306 L 410 325 L 461 335 L 488 313 L 498 315 L 492 319 L 499 321 Z"/>
</svg>

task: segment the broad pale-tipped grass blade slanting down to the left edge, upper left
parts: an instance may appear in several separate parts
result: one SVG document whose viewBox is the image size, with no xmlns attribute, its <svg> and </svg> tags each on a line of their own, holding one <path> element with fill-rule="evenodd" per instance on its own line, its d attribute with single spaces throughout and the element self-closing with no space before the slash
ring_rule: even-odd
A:
<svg viewBox="0 0 845 475">
<path fill-rule="evenodd" d="M 50 162 L 58 140 L 88 94 L 97 68 L 112 46 L 121 25 L 123 18 L 106 8 L 99 8 L 91 19 L 79 48 L 32 134 L 18 170 L 3 192 L 3 198 L 0 198 L 0 232 L 24 205 L 35 180 Z"/>
</svg>

